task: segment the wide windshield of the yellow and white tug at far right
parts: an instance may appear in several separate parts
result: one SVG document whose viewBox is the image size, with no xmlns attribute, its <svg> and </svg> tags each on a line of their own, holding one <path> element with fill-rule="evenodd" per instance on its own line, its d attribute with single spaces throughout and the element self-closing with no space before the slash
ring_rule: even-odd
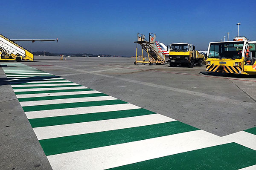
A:
<svg viewBox="0 0 256 170">
<path fill-rule="evenodd" d="M 242 58 L 244 41 L 211 43 L 208 58 Z"/>
</svg>

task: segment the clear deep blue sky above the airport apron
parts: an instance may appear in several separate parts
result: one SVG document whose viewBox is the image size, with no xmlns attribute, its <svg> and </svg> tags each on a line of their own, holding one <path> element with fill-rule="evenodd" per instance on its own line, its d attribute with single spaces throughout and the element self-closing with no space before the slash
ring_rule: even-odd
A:
<svg viewBox="0 0 256 170">
<path fill-rule="evenodd" d="M 206 50 L 230 32 L 256 40 L 255 0 L 7 0 L 1 34 L 11 39 L 57 38 L 59 42 L 19 42 L 32 51 L 135 55 L 137 33 L 168 45 L 188 42 Z"/>
</svg>

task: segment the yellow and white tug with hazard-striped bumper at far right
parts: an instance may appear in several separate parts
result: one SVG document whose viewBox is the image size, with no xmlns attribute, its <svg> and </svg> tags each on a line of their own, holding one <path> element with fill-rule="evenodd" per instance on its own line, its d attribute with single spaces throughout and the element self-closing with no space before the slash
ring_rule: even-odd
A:
<svg viewBox="0 0 256 170">
<path fill-rule="evenodd" d="M 246 37 L 209 43 L 206 71 L 256 75 L 255 46 L 256 41 Z"/>
</svg>

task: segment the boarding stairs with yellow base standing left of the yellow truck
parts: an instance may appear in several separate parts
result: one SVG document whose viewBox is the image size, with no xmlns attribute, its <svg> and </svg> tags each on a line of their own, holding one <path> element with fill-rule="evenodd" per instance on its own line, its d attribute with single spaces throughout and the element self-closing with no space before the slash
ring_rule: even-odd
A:
<svg viewBox="0 0 256 170">
<path fill-rule="evenodd" d="M 145 35 L 138 33 L 137 41 L 134 43 L 140 44 L 143 50 L 147 52 L 148 61 L 149 63 L 164 63 L 165 62 L 165 55 L 157 48 L 157 45 L 155 44 L 156 35 L 153 33 L 149 33 L 149 41 L 145 39 Z M 144 58 L 144 57 L 143 57 Z M 137 50 L 136 50 L 136 61 L 137 61 Z M 140 63 L 139 61 L 137 61 Z M 135 62 L 134 62 L 135 63 Z"/>
</svg>

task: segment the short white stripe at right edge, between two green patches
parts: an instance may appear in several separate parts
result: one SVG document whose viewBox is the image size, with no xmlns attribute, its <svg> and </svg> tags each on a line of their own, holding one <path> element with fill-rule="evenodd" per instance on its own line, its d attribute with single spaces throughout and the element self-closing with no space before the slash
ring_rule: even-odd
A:
<svg viewBox="0 0 256 170">
<path fill-rule="evenodd" d="M 236 142 L 250 149 L 256 150 L 256 135 L 240 131 L 230 135 L 222 136 L 223 140 L 227 142 Z"/>
</svg>

